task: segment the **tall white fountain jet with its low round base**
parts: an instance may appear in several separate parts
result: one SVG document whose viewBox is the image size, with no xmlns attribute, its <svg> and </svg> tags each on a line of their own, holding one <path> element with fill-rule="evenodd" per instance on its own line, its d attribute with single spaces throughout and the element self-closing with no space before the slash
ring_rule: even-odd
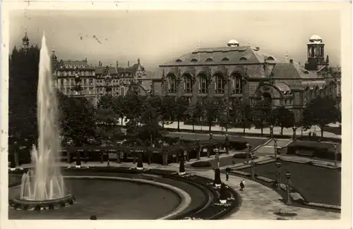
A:
<svg viewBox="0 0 353 229">
<path fill-rule="evenodd" d="M 60 148 L 57 113 L 51 60 L 43 35 L 37 89 L 38 147 L 32 149 L 31 173 L 23 173 L 20 199 L 10 201 L 15 209 L 54 209 L 75 201 L 73 195 L 66 193 L 64 179 L 56 164 Z"/>
</svg>

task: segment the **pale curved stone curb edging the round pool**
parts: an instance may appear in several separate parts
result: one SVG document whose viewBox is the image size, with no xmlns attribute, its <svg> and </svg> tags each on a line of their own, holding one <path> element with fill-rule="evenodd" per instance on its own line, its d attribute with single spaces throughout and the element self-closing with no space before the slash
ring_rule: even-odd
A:
<svg viewBox="0 0 353 229">
<path fill-rule="evenodd" d="M 162 216 L 161 218 L 157 218 L 157 220 L 164 220 L 164 219 L 168 219 L 173 216 L 176 216 L 177 214 L 184 211 L 191 204 L 191 197 L 184 190 L 181 190 L 178 187 L 174 187 L 172 185 L 167 185 L 167 184 L 155 182 L 152 180 L 143 180 L 143 179 L 138 179 L 138 178 L 107 177 L 107 176 L 99 176 L 99 175 L 71 175 L 71 176 L 64 176 L 64 178 L 71 178 L 71 179 L 72 178 L 73 179 L 94 178 L 94 179 L 107 179 L 107 180 L 125 180 L 125 181 L 141 182 L 141 183 L 145 183 L 145 184 L 149 184 L 149 185 L 155 185 L 155 186 L 163 187 L 168 190 L 172 190 L 173 192 L 177 192 L 177 194 L 179 195 L 179 197 L 181 199 L 181 203 L 179 204 L 179 206 L 177 206 L 177 208 L 174 209 L 174 211 L 172 211 L 171 213 L 168 213 L 167 215 Z"/>
</svg>

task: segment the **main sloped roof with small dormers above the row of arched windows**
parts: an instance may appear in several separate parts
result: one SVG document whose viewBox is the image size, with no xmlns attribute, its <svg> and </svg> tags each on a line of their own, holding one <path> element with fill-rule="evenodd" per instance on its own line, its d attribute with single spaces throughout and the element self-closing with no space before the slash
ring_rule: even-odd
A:
<svg viewBox="0 0 353 229">
<path fill-rule="evenodd" d="M 270 57 L 270 58 L 269 58 Z M 275 62 L 273 56 L 262 54 L 251 47 L 206 48 L 192 51 L 162 66 L 225 65 Z"/>
</svg>

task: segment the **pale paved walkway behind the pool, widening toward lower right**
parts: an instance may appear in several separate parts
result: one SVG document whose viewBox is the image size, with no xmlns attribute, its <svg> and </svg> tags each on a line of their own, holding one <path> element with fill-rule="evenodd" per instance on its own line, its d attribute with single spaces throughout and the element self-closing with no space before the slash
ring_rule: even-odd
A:
<svg viewBox="0 0 353 229">
<path fill-rule="evenodd" d="M 220 157 L 231 157 L 232 154 L 222 154 Z M 298 156 L 286 156 L 287 159 L 297 159 L 301 160 L 300 157 Z M 201 158 L 201 161 L 210 161 L 214 160 L 215 157 L 211 156 L 210 158 L 203 157 Z M 256 161 L 263 161 L 270 159 L 268 156 L 259 156 Z M 196 161 L 195 159 L 186 162 L 187 164 L 193 163 Z M 325 161 L 324 163 L 330 163 Z M 60 163 L 61 166 L 75 166 L 75 163 Z M 244 163 L 237 163 L 232 165 L 231 167 L 235 166 L 241 166 L 244 165 Z M 100 163 L 100 162 L 88 162 L 88 163 L 82 163 L 82 166 L 107 166 L 107 162 Z M 116 163 L 116 162 L 110 162 L 110 166 L 116 166 L 116 167 L 136 167 L 137 163 L 133 164 L 132 162 L 130 163 Z M 23 165 L 20 167 L 28 167 L 28 165 Z M 179 164 L 178 163 L 171 163 L 168 166 L 162 166 L 160 164 L 155 164 L 152 163 L 148 165 L 147 163 L 143 163 L 144 168 L 160 168 L 164 170 L 169 170 L 169 171 L 179 171 Z M 228 166 L 224 166 L 226 168 Z M 224 169 L 220 168 L 220 169 Z M 215 177 L 215 173 L 212 169 L 192 169 L 192 168 L 185 168 L 186 173 L 190 174 L 195 174 L 195 175 L 200 175 L 206 178 L 213 179 Z M 289 219 L 289 220 L 316 220 L 316 219 L 340 219 L 340 213 L 335 213 L 331 211 L 323 211 L 323 210 L 316 210 L 316 209 L 306 209 L 306 208 L 301 208 L 297 206 L 287 206 L 284 204 L 281 199 L 282 197 L 280 194 L 275 192 L 275 190 L 272 190 L 270 187 L 266 187 L 265 185 L 261 185 L 261 183 L 255 182 L 253 180 L 249 180 L 246 178 L 241 178 L 236 175 L 229 175 L 229 180 L 225 180 L 225 174 L 221 174 L 221 179 L 222 182 L 225 182 L 226 185 L 229 187 L 232 187 L 234 190 L 236 190 L 240 196 L 241 196 L 241 205 L 238 209 L 238 211 L 235 211 L 231 215 L 229 215 L 226 219 L 258 219 L 258 220 L 270 220 L 270 219 Z M 239 190 L 239 183 L 241 180 L 245 180 L 246 182 L 246 187 L 244 191 Z M 277 216 L 275 213 L 277 212 L 283 212 L 283 213 L 296 213 L 297 216 L 290 216 L 290 217 L 285 217 L 285 216 Z"/>
</svg>

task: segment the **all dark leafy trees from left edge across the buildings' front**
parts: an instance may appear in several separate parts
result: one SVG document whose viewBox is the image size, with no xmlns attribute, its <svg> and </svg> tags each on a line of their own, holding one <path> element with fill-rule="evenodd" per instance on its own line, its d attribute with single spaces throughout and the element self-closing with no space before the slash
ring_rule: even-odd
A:
<svg viewBox="0 0 353 229">
<path fill-rule="evenodd" d="M 13 49 L 9 57 L 9 135 L 17 139 L 37 139 L 37 78 L 40 49 L 28 51 Z M 58 92 L 59 93 L 59 92 Z M 164 135 L 164 125 L 186 121 L 191 125 L 223 127 L 265 128 L 277 125 L 283 128 L 325 125 L 340 121 L 340 111 L 330 97 L 311 100 L 303 111 L 300 123 L 295 123 L 294 113 L 280 106 L 272 109 L 270 101 L 263 99 L 254 106 L 237 104 L 218 98 L 200 98 L 195 104 L 183 97 L 142 97 L 136 93 L 122 96 L 104 95 L 97 106 L 84 98 L 67 97 L 59 93 L 59 110 L 62 135 L 74 144 L 114 139 L 120 133 L 117 124 L 128 120 L 127 131 L 138 139 L 152 144 Z M 117 123 L 121 118 L 121 123 Z"/>
</svg>

